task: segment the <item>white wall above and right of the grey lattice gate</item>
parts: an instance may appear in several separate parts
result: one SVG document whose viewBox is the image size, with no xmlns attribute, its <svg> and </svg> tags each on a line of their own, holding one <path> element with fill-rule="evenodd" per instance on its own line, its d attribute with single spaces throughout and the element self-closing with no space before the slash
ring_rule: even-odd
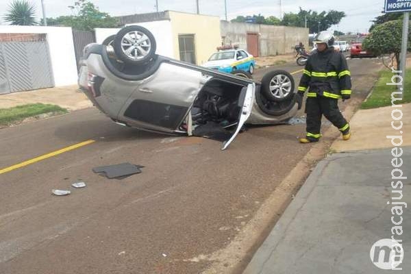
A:
<svg viewBox="0 0 411 274">
<path fill-rule="evenodd" d="M 3 34 L 47 34 L 55 86 L 77 84 L 77 65 L 71 27 L 0 25 Z"/>
</svg>

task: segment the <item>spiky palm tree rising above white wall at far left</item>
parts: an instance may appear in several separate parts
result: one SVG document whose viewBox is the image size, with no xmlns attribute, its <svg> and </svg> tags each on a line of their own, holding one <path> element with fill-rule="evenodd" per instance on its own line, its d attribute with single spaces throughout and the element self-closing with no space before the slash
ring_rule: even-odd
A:
<svg viewBox="0 0 411 274">
<path fill-rule="evenodd" d="M 4 20 L 10 22 L 10 25 L 37 25 L 34 15 L 36 6 L 27 0 L 14 0 L 9 5 L 8 13 L 5 14 Z"/>
</svg>

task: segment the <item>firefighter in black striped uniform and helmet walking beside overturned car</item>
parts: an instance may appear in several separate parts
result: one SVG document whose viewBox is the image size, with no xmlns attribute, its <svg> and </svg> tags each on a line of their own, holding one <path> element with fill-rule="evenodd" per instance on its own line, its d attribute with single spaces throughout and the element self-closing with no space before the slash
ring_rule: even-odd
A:
<svg viewBox="0 0 411 274">
<path fill-rule="evenodd" d="M 319 141 L 323 115 L 340 130 L 343 140 L 349 140 L 349 123 L 338 110 L 338 99 L 345 101 L 351 96 L 351 73 L 347 61 L 342 53 L 334 51 L 332 33 L 320 32 L 314 43 L 317 51 L 308 58 L 297 92 L 297 100 L 302 101 L 307 91 L 307 134 L 299 141 Z"/>
</svg>

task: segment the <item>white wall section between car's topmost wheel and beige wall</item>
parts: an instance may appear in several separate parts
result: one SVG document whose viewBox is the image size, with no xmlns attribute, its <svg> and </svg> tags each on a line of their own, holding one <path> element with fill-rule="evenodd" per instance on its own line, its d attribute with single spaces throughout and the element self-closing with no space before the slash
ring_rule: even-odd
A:
<svg viewBox="0 0 411 274">
<path fill-rule="evenodd" d="M 155 44 L 157 45 L 157 50 L 155 53 L 169 58 L 179 59 L 179 56 L 174 56 L 173 31 L 169 20 L 151 21 L 129 25 L 140 25 L 148 29 L 153 34 Z"/>
</svg>

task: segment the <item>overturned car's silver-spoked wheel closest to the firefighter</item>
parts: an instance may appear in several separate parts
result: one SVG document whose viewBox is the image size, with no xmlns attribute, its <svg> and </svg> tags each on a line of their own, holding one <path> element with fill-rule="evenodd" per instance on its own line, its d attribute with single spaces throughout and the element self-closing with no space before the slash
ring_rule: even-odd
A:
<svg viewBox="0 0 411 274">
<path fill-rule="evenodd" d="M 286 71 L 271 71 L 261 80 L 261 88 L 270 101 L 286 101 L 294 95 L 294 78 Z"/>
</svg>

